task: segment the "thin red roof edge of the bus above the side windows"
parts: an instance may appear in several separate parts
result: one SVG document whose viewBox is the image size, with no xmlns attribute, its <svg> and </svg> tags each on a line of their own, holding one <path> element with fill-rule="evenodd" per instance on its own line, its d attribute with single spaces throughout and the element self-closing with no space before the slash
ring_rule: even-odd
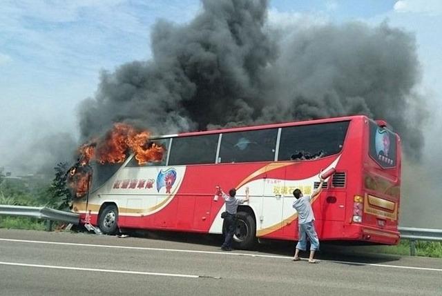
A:
<svg viewBox="0 0 442 296">
<path fill-rule="evenodd" d="M 188 136 L 195 136 L 195 135 L 211 135 L 211 134 L 220 134 L 224 132 L 242 132 L 244 130 L 262 130 L 266 128 L 284 128 L 286 126 L 302 126 L 307 124 L 325 124 L 327 122 L 335 122 L 335 121 L 347 121 L 352 119 L 368 119 L 365 115 L 352 115 L 352 116 L 345 116 L 345 117 L 329 117 L 329 118 L 323 118 L 323 119 L 309 119 L 309 120 L 303 120 L 303 121 L 289 121 L 289 122 L 282 122 L 280 124 L 261 124 L 257 126 L 241 126 L 238 128 L 220 128 L 216 130 L 204 130 L 204 131 L 198 131 L 198 132 L 182 132 L 180 134 L 174 134 L 174 135 L 158 135 L 153 136 L 151 139 L 164 139 L 164 138 L 171 138 L 171 137 L 188 137 Z M 385 121 L 381 121 L 385 123 Z"/>
</svg>

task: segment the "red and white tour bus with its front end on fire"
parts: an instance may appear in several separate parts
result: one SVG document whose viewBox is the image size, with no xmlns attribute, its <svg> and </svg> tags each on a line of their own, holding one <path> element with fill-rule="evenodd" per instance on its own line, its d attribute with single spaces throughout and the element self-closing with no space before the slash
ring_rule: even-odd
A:
<svg viewBox="0 0 442 296">
<path fill-rule="evenodd" d="M 336 172 L 312 200 L 320 240 L 397 244 L 401 140 L 385 121 L 349 116 L 153 137 L 162 161 L 97 166 L 75 213 L 103 233 L 118 228 L 222 233 L 223 199 L 237 197 L 236 248 L 260 239 L 298 239 L 295 188 L 305 195 L 321 170 Z M 110 167 L 110 168 L 109 168 Z M 87 200 L 86 200 L 87 199 Z"/>
</svg>

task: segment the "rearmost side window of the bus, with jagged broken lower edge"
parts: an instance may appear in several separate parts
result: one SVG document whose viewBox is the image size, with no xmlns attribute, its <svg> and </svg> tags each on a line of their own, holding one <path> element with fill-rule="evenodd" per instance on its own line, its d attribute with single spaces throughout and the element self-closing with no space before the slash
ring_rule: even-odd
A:
<svg viewBox="0 0 442 296">
<path fill-rule="evenodd" d="M 278 160 L 318 159 L 342 150 L 349 121 L 282 128 Z"/>
</svg>

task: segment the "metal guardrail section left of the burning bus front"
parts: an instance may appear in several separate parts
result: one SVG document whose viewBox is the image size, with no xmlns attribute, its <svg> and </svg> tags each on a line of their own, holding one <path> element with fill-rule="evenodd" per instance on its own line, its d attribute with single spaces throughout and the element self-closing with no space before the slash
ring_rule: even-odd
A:
<svg viewBox="0 0 442 296">
<path fill-rule="evenodd" d="M 53 208 L 36 206 L 6 206 L 0 205 L 0 215 L 33 217 L 37 219 L 46 219 L 49 221 L 64 221 L 75 225 L 79 224 L 79 215 L 68 213 Z"/>
</svg>

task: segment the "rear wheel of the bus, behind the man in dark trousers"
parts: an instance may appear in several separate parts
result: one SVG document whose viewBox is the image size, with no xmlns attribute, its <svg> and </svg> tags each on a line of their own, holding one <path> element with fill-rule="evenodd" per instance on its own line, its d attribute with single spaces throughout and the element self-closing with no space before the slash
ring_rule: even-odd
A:
<svg viewBox="0 0 442 296">
<path fill-rule="evenodd" d="M 256 244 L 256 221 L 247 212 L 236 214 L 236 230 L 233 235 L 233 246 L 238 249 L 250 249 Z"/>
</svg>

